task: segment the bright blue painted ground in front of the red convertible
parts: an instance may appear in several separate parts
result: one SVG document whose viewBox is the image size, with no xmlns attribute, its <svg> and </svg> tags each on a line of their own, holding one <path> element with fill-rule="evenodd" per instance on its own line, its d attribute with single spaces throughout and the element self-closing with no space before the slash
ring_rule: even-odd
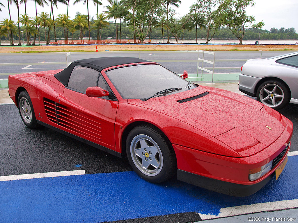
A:
<svg viewBox="0 0 298 223">
<path fill-rule="evenodd" d="M 231 197 L 172 179 L 148 183 L 135 172 L 0 182 L 0 222 L 105 222 L 298 199 L 298 156 L 280 178 L 249 197 Z"/>
</svg>

